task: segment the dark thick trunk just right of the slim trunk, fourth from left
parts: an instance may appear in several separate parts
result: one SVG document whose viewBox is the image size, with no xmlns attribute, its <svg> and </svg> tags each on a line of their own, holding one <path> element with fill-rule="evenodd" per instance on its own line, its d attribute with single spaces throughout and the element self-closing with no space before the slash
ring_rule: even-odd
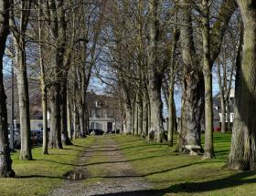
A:
<svg viewBox="0 0 256 196">
<path fill-rule="evenodd" d="M 51 33 L 51 41 L 53 41 L 53 60 L 51 66 L 51 77 L 53 78 L 50 84 L 50 108 L 51 108 L 51 126 L 50 126 L 50 138 L 49 146 L 51 148 L 62 149 L 61 143 L 61 108 L 63 108 L 63 98 L 60 93 L 63 90 L 61 81 L 63 80 L 62 73 L 64 67 L 64 56 L 67 46 L 67 21 L 65 18 L 64 1 L 49 1 L 47 17 L 50 19 L 49 28 Z M 66 101 L 66 100 L 65 100 Z M 66 108 L 64 108 L 65 110 Z M 62 111 L 64 111 L 62 109 Z"/>
</svg>

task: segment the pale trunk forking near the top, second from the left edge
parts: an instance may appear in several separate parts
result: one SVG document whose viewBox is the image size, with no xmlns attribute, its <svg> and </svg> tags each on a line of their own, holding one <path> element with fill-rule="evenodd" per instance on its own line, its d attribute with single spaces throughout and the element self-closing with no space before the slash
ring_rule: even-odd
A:
<svg viewBox="0 0 256 196">
<path fill-rule="evenodd" d="M 19 6 L 19 7 L 18 7 Z M 20 9 L 20 14 L 15 15 L 14 9 Z M 26 55 L 26 32 L 27 22 L 30 15 L 31 1 L 22 1 L 12 5 L 12 34 L 16 53 L 16 79 L 18 89 L 19 119 L 20 119 L 20 160 L 33 160 L 30 141 L 30 116 L 29 96 L 27 82 L 27 55 Z M 16 16 L 19 17 L 19 24 L 16 24 Z"/>
</svg>

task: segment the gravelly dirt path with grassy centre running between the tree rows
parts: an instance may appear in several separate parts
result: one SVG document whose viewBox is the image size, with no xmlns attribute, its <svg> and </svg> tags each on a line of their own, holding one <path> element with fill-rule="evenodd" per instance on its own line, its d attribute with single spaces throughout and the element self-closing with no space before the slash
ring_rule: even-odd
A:
<svg viewBox="0 0 256 196">
<path fill-rule="evenodd" d="M 117 143 L 109 137 L 96 137 L 93 146 L 81 153 L 69 178 L 85 180 L 65 180 L 49 195 L 154 195 L 149 191 L 152 185 L 133 170 Z"/>
</svg>

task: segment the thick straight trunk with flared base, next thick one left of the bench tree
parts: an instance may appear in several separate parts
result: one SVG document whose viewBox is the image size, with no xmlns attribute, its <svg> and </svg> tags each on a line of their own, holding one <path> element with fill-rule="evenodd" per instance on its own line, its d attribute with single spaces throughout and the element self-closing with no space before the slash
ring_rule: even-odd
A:
<svg viewBox="0 0 256 196">
<path fill-rule="evenodd" d="M 165 139 L 163 127 L 161 99 L 162 76 L 159 73 L 157 60 L 158 42 L 159 42 L 159 2 L 154 0 L 150 3 L 150 22 L 149 22 L 149 46 L 148 46 L 148 95 L 150 100 L 151 120 L 149 139 L 156 139 L 162 142 Z"/>
</svg>

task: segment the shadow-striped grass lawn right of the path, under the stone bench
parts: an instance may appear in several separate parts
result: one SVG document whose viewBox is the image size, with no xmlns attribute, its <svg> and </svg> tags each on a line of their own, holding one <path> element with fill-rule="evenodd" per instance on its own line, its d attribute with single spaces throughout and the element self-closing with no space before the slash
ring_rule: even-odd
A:
<svg viewBox="0 0 256 196">
<path fill-rule="evenodd" d="M 221 169 L 230 147 L 231 134 L 214 132 L 216 159 L 202 160 L 172 152 L 166 144 L 147 143 L 133 136 L 113 136 L 127 161 L 155 192 L 166 195 L 256 195 L 256 172 Z"/>
</svg>

